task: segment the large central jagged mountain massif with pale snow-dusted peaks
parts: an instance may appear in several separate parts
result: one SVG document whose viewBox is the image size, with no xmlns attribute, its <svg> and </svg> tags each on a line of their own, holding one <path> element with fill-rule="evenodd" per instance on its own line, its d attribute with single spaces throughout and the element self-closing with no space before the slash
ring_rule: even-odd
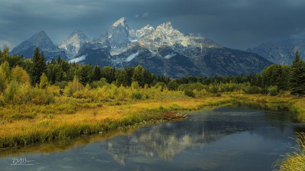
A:
<svg viewBox="0 0 305 171">
<path fill-rule="evenodd" d="M 272 64 L 259 55 L 183 34 L 171 22 L 133 30 L 121 18 L 91 41 L 81 35 L 72 33 L 60 44 L 70 62 L 115 68 L 142 65 L 154 74 L 169 77 L 248 75 Z"/>
</svg>

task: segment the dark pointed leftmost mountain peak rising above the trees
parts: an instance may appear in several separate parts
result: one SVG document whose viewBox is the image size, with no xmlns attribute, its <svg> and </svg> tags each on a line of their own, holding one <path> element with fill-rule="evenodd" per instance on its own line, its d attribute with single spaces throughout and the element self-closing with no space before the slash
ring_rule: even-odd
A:
<svg viewBox="0 0 305 171">
<path fill-rule="evenodd" d="M 10 54 L 19 54 L 25 58 L 31 58 L 36 47 L 44 53 L 46 60 L 57 58 L 59 55 L 63 58 L 66 57 L 65 52 L 56 46 L 44 31 L 40 31 L 29 39 L 22 41 Z"/>
</svg>

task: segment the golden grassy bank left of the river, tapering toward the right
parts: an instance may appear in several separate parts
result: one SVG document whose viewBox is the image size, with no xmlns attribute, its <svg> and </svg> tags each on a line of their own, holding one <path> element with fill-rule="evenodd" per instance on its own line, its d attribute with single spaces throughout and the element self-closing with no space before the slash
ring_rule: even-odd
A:
<svg viewBox="0 0 305 171">
<path fill-rule="evenodd" d="M 56 106 L 61 106 L 62 100 L 73 99 L 61 98 L 54 104 L 44 106 L 2 107 L 2 112 L 14 113 L 6 117 L 0 125 L 0 147 L 70 139 L 82 134 L 105 133 L 119 127 L 140 123 L 143 120 L 182 119 L 183 116 L 178 114 L 181 111 L 199 110 L 205 106 L 218 106 L 235 101 L 227 95 L 206 98 L 148 99 L 115 104 L 75 101 L 74 113 L 69 112 L 69 108 L 72 107 L 69 105 L 61 111 L 53 111 Z"/>
</svg>

